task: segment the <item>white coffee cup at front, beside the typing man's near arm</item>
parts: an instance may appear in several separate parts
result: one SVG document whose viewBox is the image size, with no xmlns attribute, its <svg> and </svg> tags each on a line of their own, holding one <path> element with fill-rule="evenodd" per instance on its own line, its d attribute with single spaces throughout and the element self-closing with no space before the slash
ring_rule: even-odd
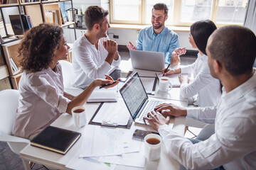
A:
<svg viewBox="0 0 256 170">
<path fill-rule="evenodd" d="M 148 161 L 155 161 L 160 158 L 161 142 L 161 136 L 153 133 L 144 137 L 145 157 Z"/>
</svg>

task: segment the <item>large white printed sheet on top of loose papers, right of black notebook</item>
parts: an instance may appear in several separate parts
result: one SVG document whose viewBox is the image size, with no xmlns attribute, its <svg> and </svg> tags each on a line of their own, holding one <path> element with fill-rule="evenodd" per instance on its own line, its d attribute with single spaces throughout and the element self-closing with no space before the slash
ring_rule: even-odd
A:
<svg viewBox="0 0 256 170">
<path fill-rule="evenodd" d="M 89 133 L 90 132 L 90 133 Z M 122 128 L 85 127 L 80 157 L 102 157 L 139 152 L 141 141 L 132 140 L 132 131 Z M 127 138 L 127 134 L 129 138 Z"/>
</svg>

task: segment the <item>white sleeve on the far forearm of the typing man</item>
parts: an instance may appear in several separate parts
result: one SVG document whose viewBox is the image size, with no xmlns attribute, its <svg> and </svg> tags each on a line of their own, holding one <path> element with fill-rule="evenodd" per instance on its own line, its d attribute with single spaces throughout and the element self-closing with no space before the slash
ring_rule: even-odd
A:
<svg viewBox="0 0 256 170">
<path fill-rule="evenodd" d="M 217 106 L 206 108 L 186 108 L 188 118 L 201 120 L 204 123 L 215 123 Z"/>
</svg>

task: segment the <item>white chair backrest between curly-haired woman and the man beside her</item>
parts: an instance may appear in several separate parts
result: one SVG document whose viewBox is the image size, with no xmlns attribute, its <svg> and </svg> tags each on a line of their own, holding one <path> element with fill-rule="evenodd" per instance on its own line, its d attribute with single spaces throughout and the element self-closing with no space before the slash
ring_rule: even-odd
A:
<svg viewBox="0 0 256 170">
<path fill-rule="evenodd" d="M 70 62 L 65 60 L 60 60 L 62 71 L 63 71 L 63 84 L 64 87 L 71 86 L 71 81 L 73 79 L 73 67 Z"/>
</svg>

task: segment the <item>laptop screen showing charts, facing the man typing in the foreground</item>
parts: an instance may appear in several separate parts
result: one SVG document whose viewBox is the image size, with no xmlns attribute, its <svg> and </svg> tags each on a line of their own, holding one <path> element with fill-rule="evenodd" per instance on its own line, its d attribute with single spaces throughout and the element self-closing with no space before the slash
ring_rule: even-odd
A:
<svg viewBox="0 0 256 170">
<path fill-rule="evenodd" d="M 127 83 L 122 86 L 120 94 L 134 119 L 139 113 L 140 108 L 142 108 L 144 102 L 148 99 L 138 73 L 135 73 Z"/>
</svg>

